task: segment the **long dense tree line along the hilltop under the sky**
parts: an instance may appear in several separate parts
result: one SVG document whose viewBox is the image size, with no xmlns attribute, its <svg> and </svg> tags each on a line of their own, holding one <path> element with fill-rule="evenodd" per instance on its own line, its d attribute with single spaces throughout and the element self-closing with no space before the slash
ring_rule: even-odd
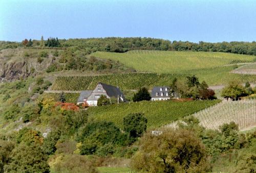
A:
<svg viewBox="0 0 256 173">
<path fill-rule="evenodd" d="M 26 41 L 25 41 L 26 40 Z M 164 39 L 146 37 L 106 37 L 106 38 L 85 38 L 85 39 L 61 39 L 44 37 L 41 41 L 27 39 L 22 42 L 0 41 L 0 50 L 5 48 L 16 48 L 26 46 L 47 46 L 47 47 L 78 47 L 85 50 L 87 54 L 96 51 L 124 53 L 131 50 L 158 50 L 158 51 L 196 51 L 196 52 L 224 52 L 234 54 L 256 55 L 256 42 L 218 42 L 210 43 L 199 41 L 169 41 Z M 25 42 L 24 42 L 25 41 Z M 25 44 L 24 44 L 25 43 Z"/>
</svg>

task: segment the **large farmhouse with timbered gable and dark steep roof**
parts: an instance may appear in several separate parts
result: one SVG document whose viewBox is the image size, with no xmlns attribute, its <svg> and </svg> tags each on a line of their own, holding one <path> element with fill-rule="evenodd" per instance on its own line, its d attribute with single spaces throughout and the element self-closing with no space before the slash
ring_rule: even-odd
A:
<svg viewBox="0 0 256 173">
<path fill-rule="evenodd" d="M 97 106 L 100 95 L 105 95 L 107 98 L 114 97 L 119 102 L 125 102 L 124 95 L 118 87 L 98 83 L 94 90 L 82 91 L 77 104 L 87 103 L 89 106 Z"/>
</svg>

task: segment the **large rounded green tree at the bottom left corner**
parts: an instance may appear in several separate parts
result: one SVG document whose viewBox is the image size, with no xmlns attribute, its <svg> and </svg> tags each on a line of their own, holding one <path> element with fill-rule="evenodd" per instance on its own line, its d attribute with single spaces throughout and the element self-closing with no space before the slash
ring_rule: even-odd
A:
<svg viewBox="0 0 256 173">
<path fill-rule="evenodd" d="M 10 161 L 5 165 L 6 172 L 50 172 L 48 157 L 41 152 L 39 145 L 28 146 L 20 143 L 11 153 Z"/>
</svg>

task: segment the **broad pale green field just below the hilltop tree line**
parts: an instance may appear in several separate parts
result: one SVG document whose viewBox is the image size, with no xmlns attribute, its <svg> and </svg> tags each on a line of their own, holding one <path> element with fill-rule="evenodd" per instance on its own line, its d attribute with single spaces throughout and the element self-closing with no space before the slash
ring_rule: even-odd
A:
<svg viewBox="0 0 256 173">
<path fill-rule="evenodd" d="M 252 62 L 255 56 L 215 52 L 129 51 L 96 52 L 95 57 L 119 61 L 139 71 L 180 73 L 181 71 L 220 67 L 231 63 Z"/>
</svg>

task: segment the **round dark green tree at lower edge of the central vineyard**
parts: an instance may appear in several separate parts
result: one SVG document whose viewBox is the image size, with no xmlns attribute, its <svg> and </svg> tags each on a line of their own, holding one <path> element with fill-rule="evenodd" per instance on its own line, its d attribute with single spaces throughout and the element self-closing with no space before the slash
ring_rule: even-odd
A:
<svg viewBox="0 0 256 173">
<path fill-rule="evenodd" d="M 131 137 L 141 137 L 146 131 L 147 119 L 142 113 L 131 113 L 123 118 L 123 130 Z"/>
</svg>

